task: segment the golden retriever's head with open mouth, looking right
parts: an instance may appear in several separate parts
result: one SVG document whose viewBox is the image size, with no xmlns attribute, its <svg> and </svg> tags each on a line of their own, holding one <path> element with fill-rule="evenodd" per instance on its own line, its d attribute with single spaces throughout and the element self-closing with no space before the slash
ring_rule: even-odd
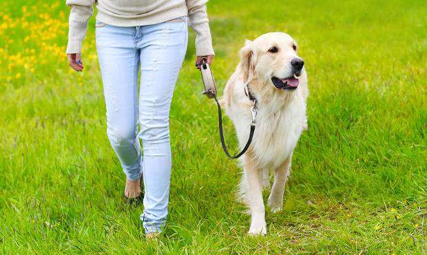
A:
<svg viewBox="0 0 427 255">
<path fill-rule="evenodd" d="M 289 34 L 271 32 L 254 41 L 247 40 L 240 50 L 240 68 L 244 83 L 256 80 L 275 88 L 298 88 L 304 61 L 297 55 L 297 45 Z M 273 87 L 271 87 L 273 88 Z"/>
</svg>

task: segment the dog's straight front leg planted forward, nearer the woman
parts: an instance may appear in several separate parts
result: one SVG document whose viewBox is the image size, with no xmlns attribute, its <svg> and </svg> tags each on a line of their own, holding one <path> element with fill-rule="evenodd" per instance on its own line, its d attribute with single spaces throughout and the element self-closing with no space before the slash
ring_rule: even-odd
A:
<svg viewBox="0 0 427 255">
<path fill-rule="evenodd" d="M 249 207 L 251 208 L 251 227 L 249 228 L 249 234 L 267 234 L 264 201 L 262 201 L 261 169 L 253 165 L 247 158 L 244 164 L 244 171 L 246 172 L 247 178 Z"/>
</svg>

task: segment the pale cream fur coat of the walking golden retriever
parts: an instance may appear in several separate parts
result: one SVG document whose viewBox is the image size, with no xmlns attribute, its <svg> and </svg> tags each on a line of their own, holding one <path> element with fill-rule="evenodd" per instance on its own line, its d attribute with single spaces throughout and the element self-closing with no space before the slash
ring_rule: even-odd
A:
<svg viewBox="0 0 427 255">
<path fill-rule="evenodd" d="M 273 46 L 277 52 L 269 51 Z M 307 129 L 306 98 L 309 89 L 304 68 L 295 72 L 291 65 L 295 58 L 300 59 L 295 41 L 288 34 L 272 32 L 254 41 L 246 41 L 240 50 L 240 63 L 227 82 L 221 100 L 236 128 L 240 148 L 249 137 L 250 108 L 253 105 L 244 93 L 245 84 L 249 84 L 250 93 L 258 101 L 253 141 L 240 158 L 244 171 L 239 194 L 250 208 L 249 234 L 267 234 L 262 189 L 270 186 L 270 170 L 274 171 L 274 181 L 268 205 L 272 212 L 282 209 L 293 150 Z M 273 76 L 284 79 L 293 74 L 299 77 L 295 90 L 283 90 L 273 85 Z"/>
</svg>

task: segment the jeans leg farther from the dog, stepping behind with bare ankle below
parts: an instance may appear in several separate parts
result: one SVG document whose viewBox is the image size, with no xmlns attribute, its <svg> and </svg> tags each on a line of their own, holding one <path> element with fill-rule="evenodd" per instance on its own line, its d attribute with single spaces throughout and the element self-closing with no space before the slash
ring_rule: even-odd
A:
<svg viewBox="0 0 427 255">
<path fill-rule="evenodd" d="M 96 28 L 96 48 L 107 106 L 107 136 L 127 179 L 140 179 L 138 132 L 138 66 L 135 28 Z"/>
</svg>

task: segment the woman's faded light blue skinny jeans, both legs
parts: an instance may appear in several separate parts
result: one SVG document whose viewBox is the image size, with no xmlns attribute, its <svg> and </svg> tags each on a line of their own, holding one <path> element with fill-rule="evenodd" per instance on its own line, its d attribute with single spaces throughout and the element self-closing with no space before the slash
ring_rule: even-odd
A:
<svg viewBox="0 0 427 255">
<path fill-rule="evenodd" d="M 107 136 L 127 179 L 138 180 L 143 174 L 140 218 L 146 233 L 161 232 L 165 226 L 171 176 L 169 110 L 187 36 L 187 17 L 136 27 L 96 22 Z"/>
</svg>

